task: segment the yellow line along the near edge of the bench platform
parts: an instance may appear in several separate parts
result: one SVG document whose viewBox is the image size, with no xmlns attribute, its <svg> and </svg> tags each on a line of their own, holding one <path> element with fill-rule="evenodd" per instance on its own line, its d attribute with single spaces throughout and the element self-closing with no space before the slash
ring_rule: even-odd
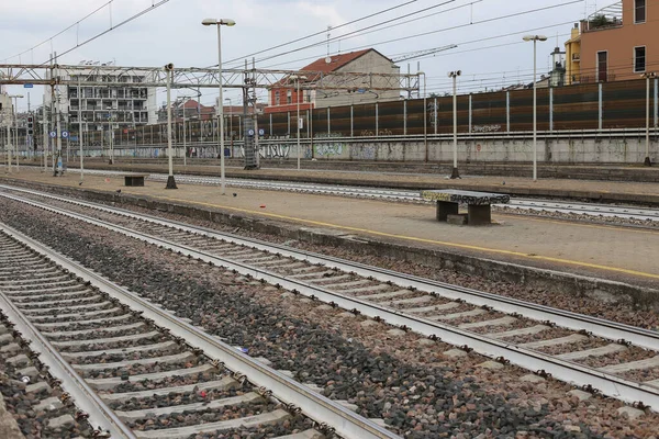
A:
<svg viewBox="0 0 659 439">
<path fill-rule="evenodd" d="M 549 256 L 528 255 L 528 254 L 523 254 L 523 252 L 518 252 L 518 251 L 501 250 L 501 249 L 496 249 L 496 248 L 487 248 L 487 247 L 471 246 L 471 245 L 468 245 L 468 244 L 446 243 L 446 241 L 434 240 L 434 239 L 418 238 L 418 237 L 414 237 L 414 236 L 396 235 L 396 234 L 390 234 L 390 233 L 386 233 L 386 232 L 370 230 L 368 228 L 343 226 L 343 225 L 337 225 L 337 224 L 323 223 L 323 222 L 320 222 L 320 221 L 298 218 L 295 216 L 279 215 L 279 214 L 276 214 L 276 213 L 267 213 L 267 212 L 253 211 L 253 210 L 249 210 L 249 209 L 242 209 L 242 207 L 233 207 L 233 206 L 226 206 L 226 205 L 220 205 L 220 204 L 204 203 L 204 202 L 201 202 L 201 201 L 190 201 L 190 200 L 176 199 L 176 198 L 170 198 L 170 196 L 157 196 L 157 195 L 150 195 L 150 196 L 153 196 L 155 199 L 175 201 L 175 202 L 179 202 L 179 203 L 199 204 L 199 205 L 204 205 L 204 206 L 208 206 L 208 207 L 225 209 L 225 210 L 235 211 L 235 212 L 249 213 L 249 214 L 260 215 L 260 216 L 268 216 L 268 217 L 277 218 L 277 219 L 287 219 L 287 221 L 293 221 L 293 222 L 298 222 L 298 223 L 306 223 L 306 224 L 312 224 L 312 225 L 316 225 L 316 226 L 332 227 L 332 228 L 338 228 L 338 229 L 350 230 L 350 232 L 361 232 L 361 233 L 366 233 L 366 234 L 369 234 L 369 235 L 384 236 L 384 237 L 388 237 L 388 238 L 412 240 L 412 241 L 424 243 L 424 244 L 434 244 L 434 245 L 446 246 L 446 247 L 461 248 L 461 249 L 466 249 L 466 250 L 487 251 L 487 252 L 491 252 L 491 254 L 515 256 L 515 257 L 525 258 L 525 259 L 534 259 L 534 260 L 541 260 L 541 261 L 548 261 L 548 262 L 558 262 L 558 263 L 563 263 L 563 264 L 569 264 L 569 266 L 588 267 L 588 268 L 593 268 L 593 269 L 597 269 L 597 270 L 612 271 L 612 272 L 625 273 L 625 274 L 632 274 L 632 275 L 638 275 L 638 277 L 643 277 L 643 278 L 659 279 L 659 274 L 646 273 L 646 272 L 643 272 L 643 271 L 635 271 L 635 270 L 627 270 L 627 269 L 618 268 L 618 267 L 600 266 L 600 264 L 596 264 L 596 263 L 573 261 L 573 260 L 570 260 L 570 259 L 552 258 L 552 257 L 549 257 Z"/>
</svg>

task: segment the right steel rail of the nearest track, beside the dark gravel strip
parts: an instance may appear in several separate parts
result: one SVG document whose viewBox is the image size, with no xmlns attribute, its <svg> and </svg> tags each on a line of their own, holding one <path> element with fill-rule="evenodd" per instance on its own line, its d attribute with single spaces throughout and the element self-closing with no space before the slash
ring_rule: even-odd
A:
<svg viewBox="0 0 659 439">
<path fill-rule="evenodd" d="M 53 210 L 52 212 L 56 211 Z M 66 213 L 63 214 L 66 215 Z M 79 217 L 78 219 L 82 218 Z M 304 415 L 316 420 L 319 424 L 324 423 L 333 427 L 339 436 L 347 439 L 399 438 L 399 436 L 378 426 L 373 421 L 353 413 L 350 409 L 308 389 L 281 372 L 265 365 L 242 351 L 217 340 L 215 337 L 196 326 L 163 311 L 149 301 L 139 297 L 137 294 L 104 279 L 93 270 L 75 263 L 71 259 L 48 246 L 25 236 L 10 226 L 0 224 L 0 229 L 20 240 L 32 250 L 46 256 L 55 263 L 69 270 L 69 272 L 78 278 L 81 278 L 83 281 L 91 282 L 101 292 L 109 294 L 111 297 L 115 297 L 133 311 L 142 312 L 143 317 L 150 318 L 157 326 L 169 329 L 170 334 L 174 336 L 181 337 L 190 346 L 201 349 L 211 360 L 219 360 L 227 369 L 245 374 L 252 383 L 272 391 L 275 397 L 299 407 Z M 120 230 L 118 229 L 118 232 Z M 123 230 L 122 233 L 125 234 L 125 232 L 126 230 Z M 153 244 L 163 245 L 165 243 L 153 241 Z M 206 260 L 206 262 L 211 261 L 211 259 Z M 134 436 L 129 437 L 132 438 Z"/>
</svg>

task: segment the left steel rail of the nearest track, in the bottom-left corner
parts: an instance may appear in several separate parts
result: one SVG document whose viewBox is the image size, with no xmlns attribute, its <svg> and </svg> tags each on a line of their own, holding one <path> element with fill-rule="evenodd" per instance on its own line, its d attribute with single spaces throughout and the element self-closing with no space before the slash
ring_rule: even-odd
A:
<svg viewBox="0 0 659 439">
<path fill-rule="evenodd" d="M 15 230 L 1 223 L 0 232 L 16 237 Z M 23 239 L 19 240 L 23 241 Z M 49 251 L 42 252 L 46 257 L 49 257 Z M 108 407 L 93 389 L 85 382 L 82 376 L 57 352 L 53 345 L 2 291 L 0 291 L 0 308 L 15 325 L 15 328 L 21 333 L 21 337 L 30 341 L 31 349 L 38 353 L 40 360 L 48 367 L 53 376 L 62 380 L 62 389 L 71 395 L 76 406 L 89 415 L 90 425 L 99 426 L 100 430 L 109 432 L 112 438 L 136 439 L 131 428 Z"/>
</svg>

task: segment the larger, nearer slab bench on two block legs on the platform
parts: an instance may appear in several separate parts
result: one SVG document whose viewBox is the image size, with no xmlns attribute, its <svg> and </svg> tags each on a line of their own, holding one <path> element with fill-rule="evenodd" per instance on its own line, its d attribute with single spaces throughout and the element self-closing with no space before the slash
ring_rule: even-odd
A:
<svg viewBox="0 0 659 439">
<path fill-rule="evenodd" d="M 507 204 L 510 195 L 461 191 L 457 189 L 423 191 L 421 196 L 437 202 L 437 221 L 447 222 L 449 217 L 459 217 L 460 204 L 467 204 L 467 224 L 480 226 L 492 223 L 492 204 Z M 459 218 L 458 218 L 459 219 Z"/>
</svg>

